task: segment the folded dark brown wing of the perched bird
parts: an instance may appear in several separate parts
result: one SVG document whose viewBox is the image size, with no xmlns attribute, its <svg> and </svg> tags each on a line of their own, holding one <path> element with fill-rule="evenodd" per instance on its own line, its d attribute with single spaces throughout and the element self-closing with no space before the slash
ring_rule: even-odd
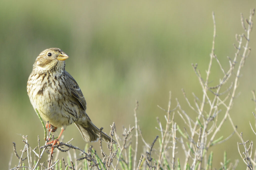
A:
<svg viewBox="0 0 256 170">
<path fill-rule="evenodd" d="M 86 110 L 86 100 L 80 87 L 78 86 L 76 80 L 68 72 L 66 72 L 66 74 L 68 76 L 67 84 L 70 88 L 71 94 L 80 102 L 84 110 Z"/>
</svg>

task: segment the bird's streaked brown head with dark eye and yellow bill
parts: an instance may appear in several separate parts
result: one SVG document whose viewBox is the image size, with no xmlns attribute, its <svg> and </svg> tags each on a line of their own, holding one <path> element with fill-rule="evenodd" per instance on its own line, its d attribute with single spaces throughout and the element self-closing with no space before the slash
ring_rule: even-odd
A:
<svg viewBox="0 0 256 170">
<path fill-rule="evenodd" d="M 42 51 L 33 65 L 33 70 L 48 71 L 48 70 L 65 70 L 65 60 L 68 55 L 59 48 L 48 48 Z"/>
</svg>

